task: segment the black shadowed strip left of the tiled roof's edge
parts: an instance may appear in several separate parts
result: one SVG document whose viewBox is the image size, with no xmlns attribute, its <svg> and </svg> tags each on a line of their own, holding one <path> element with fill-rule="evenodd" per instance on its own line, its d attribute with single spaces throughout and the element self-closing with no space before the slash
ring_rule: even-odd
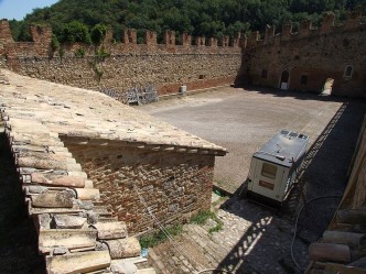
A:
<svg viewBox="0 0 366 274">
<path fill-rule="evenodd" d="M 0 265 L 3 274 L 41 274 L 45 270 L 3 131 L 0 133 Z"/>
</svg>

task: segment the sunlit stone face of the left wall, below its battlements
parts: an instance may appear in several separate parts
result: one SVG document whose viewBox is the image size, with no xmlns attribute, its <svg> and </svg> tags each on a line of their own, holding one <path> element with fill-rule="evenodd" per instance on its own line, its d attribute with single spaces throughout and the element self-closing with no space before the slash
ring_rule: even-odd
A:
<svg viewBox="0 0 366 274">
<path fill-rule="evenodd" d="M 40 79 L 98 90 L 123 91 L 154 84 L 160 95 L 234 83 L 240 66 L 237 54 L 123 54 L 98 61 L 93 57 L 19 58 L 18 72 Z M 100 80 L 98 73 L 103 72 Z"/>
</svg>

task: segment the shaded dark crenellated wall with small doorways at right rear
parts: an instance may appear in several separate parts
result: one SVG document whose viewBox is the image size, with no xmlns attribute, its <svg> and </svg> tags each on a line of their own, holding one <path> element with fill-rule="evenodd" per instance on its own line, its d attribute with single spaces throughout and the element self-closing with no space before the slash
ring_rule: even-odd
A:
<svg viewBox="0 0 366 274">
<path fill-rule="evenodd" d="M 291 25 L 276 35 L 274 28 L 267 26 L 263 40 L 255 32 L 246 47 L 250 58 L 244 63 L 248 81 L 274 88 L 287 83 L 284 89 L 316 92 L 329 81 L 333 95 L 365 97 L 366 32 L 359 19 L 352 13 L 335 26 L 334 14 L 324 13 L 317 29 L 304 21 L 297 33 Z"/>
</svg>

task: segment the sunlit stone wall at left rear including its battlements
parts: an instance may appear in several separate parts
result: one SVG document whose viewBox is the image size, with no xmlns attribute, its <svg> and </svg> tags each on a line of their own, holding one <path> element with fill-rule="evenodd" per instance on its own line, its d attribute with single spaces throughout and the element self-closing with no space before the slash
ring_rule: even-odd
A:
<svg viewBox="0 0 366 274">
<path fill-rule="evenodd" d="M 0 56 L 17 73 L 94 90 L 126 91 L 153 84 L 160 95 L 177 92 L 181 85 L 190 90 L 234 83 L 245 43 L 239 34 L 233 41 L 183 34 L 177 45 L 175 33 L 168 31 L 163 44 L 158 44 L 157 34 L 148 31 L 144 44 L 137 44 L 137 32 L 126 30 L 122 43 L 112 43 L 107 33 L 103 43 L 107 55 L 100 56 L 86 44 L 62 45 L 61 54 L 53 51 L 49 28 L 32 26 L 31 34 L 33 42 L 15 43 L 8 21 L 0 22 Z M 76 57 L 80 48 L 85 56 Z"/>
</svg>

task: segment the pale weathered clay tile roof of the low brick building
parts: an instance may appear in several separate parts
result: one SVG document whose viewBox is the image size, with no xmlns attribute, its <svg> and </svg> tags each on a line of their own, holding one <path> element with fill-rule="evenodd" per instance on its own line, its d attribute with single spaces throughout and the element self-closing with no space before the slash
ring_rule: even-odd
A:
<svg viewBox="0 0 366 274">
<path fill-rule="evenodd" d="M 60 135 L 149 145 L 165 144 L 166 134 L 168 142 L 181 142 L 180 147 L 223 150 L 97 92 L 6 76 L 1 78 L 7 85 L 0 85 L 1 119 L 47 273 L 155 273 L 137 270 L 134 263 L 146 261 L 138 240 L 128 237 L 125 222 L 99 201 L 99 190 Z"/>
</svg>

